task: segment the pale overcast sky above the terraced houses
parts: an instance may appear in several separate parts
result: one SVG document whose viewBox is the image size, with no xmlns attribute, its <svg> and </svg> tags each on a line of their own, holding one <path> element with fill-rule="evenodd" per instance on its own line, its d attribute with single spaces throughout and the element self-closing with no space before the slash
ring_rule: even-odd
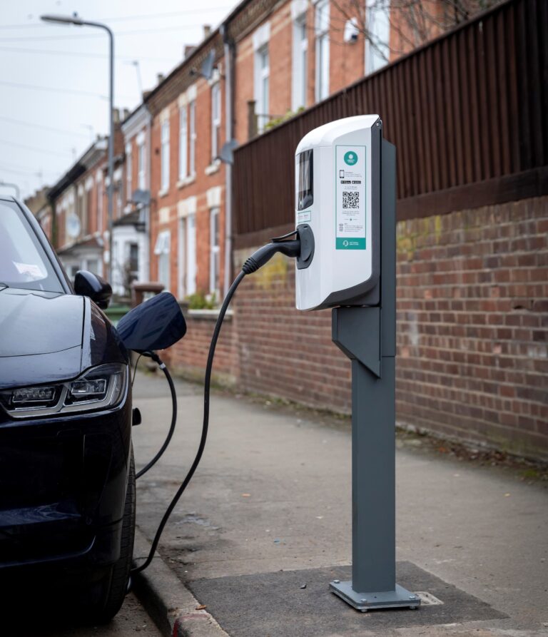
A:
<svg viewBox="0 0 548 637">
<path fill-rule="evenodd" d="M 108 132 L 108 39 L 91 27 L 40 21 L 72 14 L 115 35 L 115 106 L 133 109 L 157 73 L 218 26 L 235 0 L 17 0 L 0 10 L 0 182 L 26 197 L 56 181 L 97 134 Z M 200 7 L 198 9 L 198 6 Z M 138 61 L 138 67 L 135 65 Z M 13 190 L 0 185 L 1 193 Z"/>
</svg>

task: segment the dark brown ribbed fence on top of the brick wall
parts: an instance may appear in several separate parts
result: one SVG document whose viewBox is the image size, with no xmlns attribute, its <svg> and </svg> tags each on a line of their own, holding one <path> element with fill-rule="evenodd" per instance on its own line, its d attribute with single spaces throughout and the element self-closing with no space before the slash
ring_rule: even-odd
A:
<svg viewBox="0 0 548 637">
<path fill-rule="evenodd" d="M 547 193 L 547 34 L 546 1 L 511 0 L 238 148 L 236 245 L 293 223 L 300 138 L 362 113 L 397 146 L 400 219 Z"/>
</svg>

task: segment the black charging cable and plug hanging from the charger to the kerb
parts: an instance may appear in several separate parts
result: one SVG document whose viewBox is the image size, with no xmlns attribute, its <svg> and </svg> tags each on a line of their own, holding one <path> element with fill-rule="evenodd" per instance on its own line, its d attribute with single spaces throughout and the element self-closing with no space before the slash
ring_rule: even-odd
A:
<svg viewBox="0 0 548 637">
<path fill-rule="evenodd" d="M 188 469 L 188 473 L 186 474 L 185 479 L 183 480 L 181 486 L 179 486 L 176 494 L 173 496 L 173 499 L 169 503 L 168 508 L 166 509 L 166 513 L 163 514 L 160 524 L 158 525 L 158 529 L 156 531 L 156 535 L 152 541 L 151 550 L 148 554 L 146 560 L 140 566 L 136 566 L 131 569 L 130 574 L 135 575 L 144 571 L 147 566 L 151 564 L 153 560 L 156 549 L 158 548 L 158 543 L 160 542 L 160 538 L 166 526 L 166 523 L 171 516 L 171 512 L 175 509 L 179 499 L 183 495 L 188 483 L 191 481 L 194 472 L 198 468 L 198 464 L 203 456 L 203 450 L 205 449 L 205 442 L 208 439 L 208 428 L 209 428 L 209 396 L 210 396 L 210 384 L 211 384 L 211 370 L 213 369 L 213 357 L 215 357 L 215 347 L 217 346 L 217 341 L 220 334 L 220 328 L 223 325 L 223 320 L 226 314 L 226 310 L 228 310 L 228 305 L 234 296 L 234 292 L 240 285 L 240 282 L 243 280 L 245 275 L 253 274 L 253 272 L 257 272 L 260 267 L 263 267 L 265 263 L 267 263 L 273 256 L 280 252 L 288 257 L 297 258 L 300 255 L 300 238 L 296 238 L 293 240 L 285 240 L 285 238 L 295 235 L 296 231 L 290 233 L 288 235 L 284 235 L 283 237 L 277 237 L 271 240 L 271 243 L 267 243 L 263 245 L 258 250 L 255 250 L 253 255 L 251 255 L 243 264 L 242 269 L 238 273 L 238 276 L 235 277 L 233 284 L 230 285 L 230 289 L 228 290 L 225 300 L 223 300 L 223 305 L 221 305 L 219 310 L 219 315 L 217 318 L 217 322 L 215 323 L 215 329 L 213 330 L 213 336 L 211 337 L 211 343 L 209 346 L 208 352 L 208 361 L 205 365 L 205 377 L 203 381 L 203 424 L 202 424 L 202 434 L 200 438 L 200 444 L 198 445 L 198 452 L 196 452 L 196 457 L 191 464 L 191 468 Z M 168 380 L 171 377 L 168 377 Z M 173 384 L 173 381 L 172 383 Z M 175 412 L 174 412 L 175 413 Z M 167 441 L 168 444 L 169 441 Z M 165 446 L 167 447 L 167 444 Z M 162 452 L 163 453 L 163 452 Z M 156 462 L 156 461 L 155 461 Z M 152 466 L 152 465 L 151 465 Z M 146 468 L 146 467 L 145 467 Z M 147 469 L 148 470 L 148 469 Z M 142 472 L 140 472 L 142 474 Z"/>
</svg>

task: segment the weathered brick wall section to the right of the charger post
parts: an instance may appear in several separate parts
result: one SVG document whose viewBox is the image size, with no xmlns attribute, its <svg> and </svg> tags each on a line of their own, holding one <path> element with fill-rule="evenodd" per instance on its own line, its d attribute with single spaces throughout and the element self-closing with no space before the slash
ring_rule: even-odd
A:
<svg viewBox="0 0 548 637">
<path fill-rule="evenodd" d="M 548 455 L 548 198 L 397 233 L 398 418 Z"/>
</svg>

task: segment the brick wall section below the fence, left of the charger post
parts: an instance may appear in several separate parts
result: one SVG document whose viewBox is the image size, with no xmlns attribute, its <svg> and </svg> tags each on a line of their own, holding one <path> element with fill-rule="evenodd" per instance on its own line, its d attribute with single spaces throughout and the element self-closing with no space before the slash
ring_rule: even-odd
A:
<svg viewBox="0 0 548 637">
<path fill-rule="evenodd" d="M 240 250 L 240 265 L 252 250 Z M 295 310 L 294 265 L 276 255 L 238 288 L 240 384 L 335 411 L 350 410 L 350 365 L 331 342 L 331 313 Z"/>
</svg>

